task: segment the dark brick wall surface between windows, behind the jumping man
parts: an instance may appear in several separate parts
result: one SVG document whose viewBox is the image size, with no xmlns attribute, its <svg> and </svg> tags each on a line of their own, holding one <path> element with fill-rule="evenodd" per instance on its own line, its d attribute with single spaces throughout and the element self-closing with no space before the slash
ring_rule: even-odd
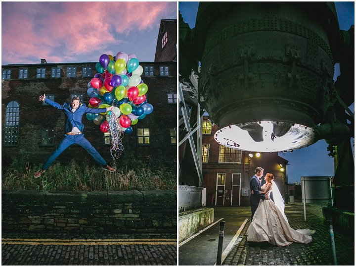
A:
<svg viewBox="0 0 356 267">
<path fill-rule="evenodd" d="M 38 101 L 41 94 L 54 94 L 55 102 L 63 104 L 70 102 L 70 95 L 81 93 L 84 102 L 89 104 L 87 95 L 88 83 L 96 73 L 96 63 L 46 63 L 29 65 L 5 65 L 3 69 L 11 69 L 11 79 L 1 81 L 1 119 L 5 121 L 6 106 L 11 101 L 19 103 L 19 134 L 16 147 L 1 146 L 2 170 L 6 169 L 13 158 L 18 155 L 28 155 L 31 164 L 42 164 L 54 148 L 58 146 L 64 135 L 64 113 L 48 106 L 42 106 Z M 168 65 L 170 76 L 159 76 L 159 66 Z M 133 133 L 126 134 L 123 139 L 123 157 L 130 154 L 135 159 L 150 163 L 162 163 L 166 168 L 176 170 L 177 145 L 171 144 L 170 129 L 177 127 L 177 104 L 168 104 L 167 93 L 177 92 L 177 63 L 176 62 L 140 62 L 140 65 L 153 65 L 154 76 L 141 76 L 148 86 L 147 102 L 153 106 L 153 112 L 144 119 L 133 125 Z M 76 78 L 66 78 L 67 66 L 77 67 Z M 91 66 L 92 77 L 82 77 L 82 67 Z M 26 67 L 29 69 L 27 79 L 18 79 L 18 69 Z M 45 78 L 36 79 L 36 68 L 45 67 Z M 60 67 L 62 78 L 51 78 L 51 68 Z M 103 156 L 111 161 L 110 146 L 105 145 L 104 134 L 100 127 L 83 117 L 85 125 L 85 136 Z M 4 123 L 1 125 L 2 144 L 4 144 Z M 150 144 L 137 144 L 137 127 L 148 127 L 150 129 Z M 54 129 L 54 145 L 42 146 L 42 129 Z M 81 147 L 72 146 L 58 157 L 61 163 L 67 163 L 70 159 L 86 161 L 96 164 Z M 120 160 L 117 161 L 120 166 Z"/>
</svg>

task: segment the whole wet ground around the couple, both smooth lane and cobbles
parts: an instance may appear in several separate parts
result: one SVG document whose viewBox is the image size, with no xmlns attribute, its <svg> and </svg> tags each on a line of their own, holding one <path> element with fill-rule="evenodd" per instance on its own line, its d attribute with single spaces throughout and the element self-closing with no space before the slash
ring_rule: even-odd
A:
<svg viewBox="0 0 356 267">
<path fill-rule="evenodd" d="M 216 264 L 219 224 L 225 221 L 222 265 L 333 265 L 329 229 L 323 223 L 322 207 L 326 204 L 307 204 L 305 221 L 302 203 L 286 205 L 285 213 L 292 228 L 316 230 L 312 243 L 292 243 L 287 247 L 247 241 L 250 207 L 215 207 L 216 223 L 190 241 L 178 245 L 178 264 Z M 355 266 L 354 233 L 347 235 L 334 229 L 334 240 L 337 265 Z"/>
</svg>

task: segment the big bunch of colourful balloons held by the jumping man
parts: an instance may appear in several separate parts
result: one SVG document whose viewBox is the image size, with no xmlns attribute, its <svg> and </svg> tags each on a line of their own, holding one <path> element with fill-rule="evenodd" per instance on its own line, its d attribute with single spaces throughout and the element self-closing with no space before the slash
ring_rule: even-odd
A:
<svg viewBox="0 0 356 267">
<path fill-rule="evenodd" d="M 153 107 L 146 101 L 148 87 L 141 80 L 143 68 L 136 55 L 119 52 L 115 60 L 110 54 L 100 56 L 95 65 L 98 73 L 88 83 L 88 107 L 114 106 L 112 112 L 121 131 L 130 134 L 133 132 L 131 125 L 150 114 Z M 87 113 L 87 119 L 100 125 L 101 132 L 106 133 L 110 130 L 110 113 L 107 113 Z"/>
</svg>

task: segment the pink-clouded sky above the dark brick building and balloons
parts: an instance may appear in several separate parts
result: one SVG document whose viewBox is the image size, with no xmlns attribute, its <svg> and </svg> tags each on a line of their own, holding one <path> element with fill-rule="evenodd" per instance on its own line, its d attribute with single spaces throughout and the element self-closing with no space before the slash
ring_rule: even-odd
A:
<svg viewBox="0 0 356 267">
<path fill-rule="evenodd" d="M 160 21 L 175 18 L 176 1 L 1 2 L 1 64 L 154 61 Z"/>
</svg>

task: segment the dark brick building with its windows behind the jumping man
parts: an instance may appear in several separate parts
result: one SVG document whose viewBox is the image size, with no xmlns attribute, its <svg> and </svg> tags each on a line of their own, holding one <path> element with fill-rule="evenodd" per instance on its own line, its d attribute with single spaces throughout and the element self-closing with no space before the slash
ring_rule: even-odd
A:
<svg viewBox="0 0 356 267">
<path fill-rule="evenodd" d="M 177 21 L 175 33 L 177 35 Z M 166 29 L 167 30 L 167 29 Z M 173 39 L 173 38 L 172 38 Z M 143 68 L 141 79 L 148 86 L 147 103 L 153 112 L 132 125 L 133 132 L 123 138 L 122 157 L 142 160 L 152 167 L 163 166 L 177 169 L 177 62 L 176 40 L 168 40 L 164 53 L 155 62 L 140 62 Z M 158 36 L 161 41 L 161 36 Z M 173 44 L 171 44 L 173 43 Z M 162 53 L 160 49 L 156 53 Z M 170 58 L 163 61 L 162 58 Z M 97 62 L 47 63 L 2 65 L 1 80 L 1 153 L 2 170 L 6 170 L 15 158 L 26 157 L 30 164 L 42 164 L 64 136 L 63 112 L 45 106 L 38 101 L 42 94 L 59 104 L 70 102 L 77 95 L 87 106 L 88 83 L 97 73 Z M 112 160 L 109 136 L 100 131 L 99 125 L 83 117 L 84 134 L 105 160 Z M 144 140 L 143 143 L 139 140 Z M 57 160 L 67 163 L 96 162 L 87 152 L 77 146 L 65 150 Z M 120 159 L 116 161 L 120 166 Z"/>
</svg>

